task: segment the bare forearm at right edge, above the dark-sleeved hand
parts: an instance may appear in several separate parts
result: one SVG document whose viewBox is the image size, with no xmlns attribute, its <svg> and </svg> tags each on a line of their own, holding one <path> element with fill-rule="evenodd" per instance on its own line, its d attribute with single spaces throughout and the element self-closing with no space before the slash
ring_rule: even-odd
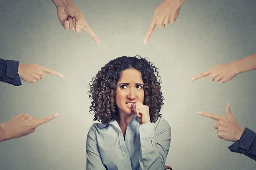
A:
<svg viewBox="0 0 256 170">
<path fill-rule="evenodd" d="M 236 74 L 256 69 L 256 53 L 250 56 L 238 59 L 230 63 L 236 68 Z"/>
</svg>

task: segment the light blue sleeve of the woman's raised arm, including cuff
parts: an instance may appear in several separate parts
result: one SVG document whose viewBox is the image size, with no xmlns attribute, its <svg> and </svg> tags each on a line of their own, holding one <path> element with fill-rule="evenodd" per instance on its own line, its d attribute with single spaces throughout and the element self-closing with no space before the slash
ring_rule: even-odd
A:
<svg viewBox="0 0 256 170">
<path fill-rule="evenodd" d="M 140 125 L 140 169 L 163 170 L 171 142 L 171 127 L 160 118 L 156 123 Z"/>
</svg>

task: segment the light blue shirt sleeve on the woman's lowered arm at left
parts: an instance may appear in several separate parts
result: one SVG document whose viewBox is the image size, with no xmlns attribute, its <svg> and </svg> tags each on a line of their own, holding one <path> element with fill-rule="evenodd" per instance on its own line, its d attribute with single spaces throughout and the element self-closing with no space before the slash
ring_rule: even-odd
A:
<svg viewBox="0 0 256 170">
<path fill-rule="evenodd" d="M 86 140 L 86 170 L 106 170 L 99 153 L 96 139 L 96 129 L 93 124 L 87 134 Z"/>
</svg>

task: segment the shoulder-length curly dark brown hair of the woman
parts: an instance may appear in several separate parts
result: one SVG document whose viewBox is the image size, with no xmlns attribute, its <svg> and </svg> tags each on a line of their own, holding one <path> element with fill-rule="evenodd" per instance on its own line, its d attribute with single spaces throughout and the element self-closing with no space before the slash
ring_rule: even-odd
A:
<svg viewBox="0 0 256 170">
<path fill-rule="evenodd" d="M 149 107 L 150 121 L 156 122 L 161 117 L 160 110 L 163 107 L 163 93 L 161 92 L 161 77 L 154 66 L 154 63 L 142 58 L 139 55 L 135 57 L 118 57 L 111 60 L 101 68 L 101 70 L 93 77 L 89 98 L 93 100 L 90 106 L 90 113 L 94 114 L 93 121 L 98 120 L 103 124 L 116 119 L 118 109 L 115 102 L 117 82 L 120 79 L 121 72 L 134 68 L 142 74 L 144 101 L 143 105 Z M 159 79 L 157 80 L 157 77 Z M 93 112 L 92 112 L 93 111 Z"/>
</svg>

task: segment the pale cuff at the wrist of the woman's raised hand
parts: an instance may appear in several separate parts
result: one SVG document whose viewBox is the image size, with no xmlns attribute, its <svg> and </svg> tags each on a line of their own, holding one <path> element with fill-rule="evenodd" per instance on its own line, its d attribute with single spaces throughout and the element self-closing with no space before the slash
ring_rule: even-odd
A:
<svg viewBox="0 0 256 170">
<path fill-rule="evenodd" d="M 140 139 L 156 138 L 154 123 L 140 125 Z"/>
</svg>

